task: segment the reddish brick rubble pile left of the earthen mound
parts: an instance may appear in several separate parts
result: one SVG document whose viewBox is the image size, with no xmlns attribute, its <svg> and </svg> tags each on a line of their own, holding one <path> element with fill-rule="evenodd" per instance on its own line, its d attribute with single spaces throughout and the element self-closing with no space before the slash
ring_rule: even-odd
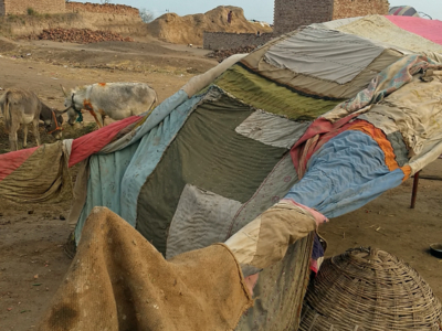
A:
<svg viewBox="0 0 442 331">
<path fill-rule="evenodd" d="M 133 42 L 131 38 L 124 38 L 110 31 L 93 31 L 90 29 L 45 29 L 39 35 L 28 36 L 30 40 L 51 40 L 78 44 L 98 43 L 104 41 Z"/>
</svg>

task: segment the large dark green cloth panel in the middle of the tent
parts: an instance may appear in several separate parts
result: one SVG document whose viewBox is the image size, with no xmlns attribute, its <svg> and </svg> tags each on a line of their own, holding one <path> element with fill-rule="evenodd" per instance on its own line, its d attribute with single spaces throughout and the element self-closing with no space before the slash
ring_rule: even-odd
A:
<svg viewBox="0 0 442 331">
<path fill-rule="evenodd" d="M 186 184 L 244 203 L 286 152 L 235 132 L 253 111 L 212 87 L 143 185 L 136 227 L 162 254 Z"/>
</svg>

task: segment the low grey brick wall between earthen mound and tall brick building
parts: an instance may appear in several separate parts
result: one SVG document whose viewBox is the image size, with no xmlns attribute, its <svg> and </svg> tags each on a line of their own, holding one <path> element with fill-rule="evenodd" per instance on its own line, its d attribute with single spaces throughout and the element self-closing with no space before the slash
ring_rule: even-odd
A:
<svg viewBox="0 0 442 331">
<path fill-rule="evenodd" d="M 272 38 L 272 33 L 263 33 L 257 36 L 255 33 L 204 32 L 203 49 L 217 51 L 243 46 L 259 46 L 265 44 Z"/>
</svg>

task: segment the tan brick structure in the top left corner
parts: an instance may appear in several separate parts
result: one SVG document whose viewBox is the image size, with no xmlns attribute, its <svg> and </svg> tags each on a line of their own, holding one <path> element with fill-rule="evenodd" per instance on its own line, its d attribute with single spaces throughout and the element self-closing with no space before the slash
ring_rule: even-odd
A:
<svg viewBox="0 0 442 331">
<path fill-rule="evenodd" d="M 29 8 L 38 13 L 63 13 L 65 0 L 0 0 L 0 15 L 27 14 Z"/>
</svg>

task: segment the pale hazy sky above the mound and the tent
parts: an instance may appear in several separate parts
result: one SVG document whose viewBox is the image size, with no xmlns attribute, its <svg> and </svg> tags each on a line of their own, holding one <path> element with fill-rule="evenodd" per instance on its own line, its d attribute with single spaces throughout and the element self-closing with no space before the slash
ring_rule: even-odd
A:
<svg viewBox="0 0 442 331">
<path fill-rule="evenodd" d="M 75 0 L 80 2 L 96 2 L 99 0 Z M 389 0 L 390 6 L 412 6 L 418 11 L 424 12 L 436 20 L 442 21 L 442 0 Z M 146 0 L 110 0 L 110 3 L 127 4 L 135 8 L 146 8 L 159 17 L 166 12 L 176 12 L 179 15 L 203 13 L 218 6 L 236 6 L 244 9 L 245 18 L 249 20 L 273 22 L 273 0 L 160 0 L 160 1 L 146 1 Z"/>
</svg>

